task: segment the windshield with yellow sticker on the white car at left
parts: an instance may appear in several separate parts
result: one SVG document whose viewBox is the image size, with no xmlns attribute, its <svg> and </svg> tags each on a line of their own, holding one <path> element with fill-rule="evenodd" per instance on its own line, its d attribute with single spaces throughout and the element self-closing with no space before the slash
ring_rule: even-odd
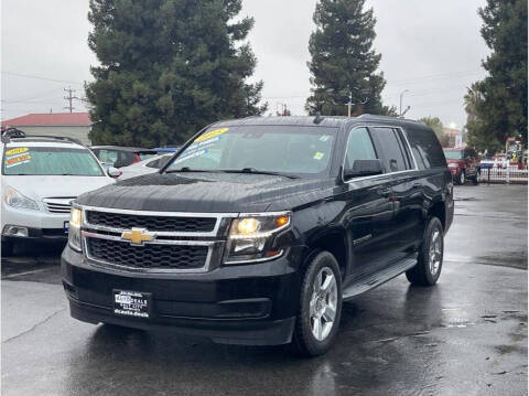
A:
<svg viewBox="0 0 529 396">
<path fill-rule="evenodd" d="M 86 149 L 66 147 L 9 147 L 3 174 L 101 176 L 101 168 Z"/>
</svg>

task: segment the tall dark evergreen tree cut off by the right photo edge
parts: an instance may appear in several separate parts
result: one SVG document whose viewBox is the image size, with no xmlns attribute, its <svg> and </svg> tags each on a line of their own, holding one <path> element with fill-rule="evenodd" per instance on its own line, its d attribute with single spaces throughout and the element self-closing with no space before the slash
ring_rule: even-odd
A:
<svg viewBox="0 0 529 396">
<path fill-rule="evenodd" d="M 487 0 L 479 15 L 492 53 L 483 62 L 488 76 L 467 94 L 469 141 L 499 148 L 507 137 L 521 136 L 527 145 L 527 0 Z"/>
</svg>

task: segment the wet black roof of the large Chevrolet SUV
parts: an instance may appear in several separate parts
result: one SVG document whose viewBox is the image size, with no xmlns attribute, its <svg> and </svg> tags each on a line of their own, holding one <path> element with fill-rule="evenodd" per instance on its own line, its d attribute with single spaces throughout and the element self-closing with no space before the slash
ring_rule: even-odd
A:
<svg viewBox="0 0 529 396">
<path fill-rule="evenodd" d="M 296 126 L 296 127 L 324 127 L 324 128 L 338 128 L 345 124 L 369 121 L 380 121 L 387 124 L 388 121 L 401 124 L 420 124 L 397 117 L 361 115 L 358 117 L 339 117 L 339 116 L 293 116 L 293 117 L 247 117 L 242 119 L 233 119 L 215 122 L 214 127 L 241 127 L 241 126 Z M 212 127 L 213 127 L 212 126 Z"/>
</svg>

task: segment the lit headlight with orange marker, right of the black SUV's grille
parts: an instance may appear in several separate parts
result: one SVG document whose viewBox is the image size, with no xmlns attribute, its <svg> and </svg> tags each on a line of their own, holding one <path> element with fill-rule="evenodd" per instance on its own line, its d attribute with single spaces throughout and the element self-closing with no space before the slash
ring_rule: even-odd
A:
<svg viewBox="0 0 529 396">
<path fill-rule="evenodd" d="M 231 223 L 225 264 L 266 260 L 281 255 L 272 248 L 274 235 L 290 225 L 289 213 L 242 215 Z"/>
</svg>

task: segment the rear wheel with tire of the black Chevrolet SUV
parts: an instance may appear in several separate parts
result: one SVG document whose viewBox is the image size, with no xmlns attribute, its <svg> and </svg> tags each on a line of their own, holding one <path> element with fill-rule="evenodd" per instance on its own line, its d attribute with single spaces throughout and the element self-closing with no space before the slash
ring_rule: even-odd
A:
<svg viewBox="0 0 529 396">
<path fill-rule="evenodd" d="M 406 271 L 406 277 L 412 285 L 433 286 L 438 282 L 443 267 L 443 225 L 438 217 L 430 217 L 417 265 Z"/>
</svg>

